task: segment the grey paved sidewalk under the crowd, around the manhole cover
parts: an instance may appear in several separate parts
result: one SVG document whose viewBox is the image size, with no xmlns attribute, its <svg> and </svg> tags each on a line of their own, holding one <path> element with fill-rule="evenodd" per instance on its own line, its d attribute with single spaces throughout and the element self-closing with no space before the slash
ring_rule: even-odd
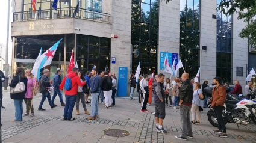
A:
<svg viewBox="0 0 256 143">
<path fill-rule="evenodd" d="M 52 95 L 52 94 L 51 94 Z M 58 96 L 55 99 L 57 108 L 50 109 L 48 100 L 43 104 L 45 112 L 37 111 L 41 95 L 33 100 L 35 109 L 34 117 L 23 117 L 21 123 L 13 123 L 14 103 L 10 99 L 10 93 L 4 92 L 4 106 L 2 111 L 2 142 L 256 142 L 256 126 L 239 126 L 228 123 L 226 128 L 228 138 L 219 138 L 212 132 L 215 127 L 211 126 L 207 119 L 208 109 L 201 112 L 201 124 L 193 125 L 193 139 L 180 141 L 175 135 L 181 133 L 180 112 L 178 109 L 166 107 L 166 120 L 164 128 L 168 130 L 167 134 L 158 133 L 155 130 L 154 104 L 148 106 L 148 113 L 140 112 L 140 104 L 137 100 L 128 98 L 116 98 L 116 106 L 104 109 L 104 105 L 99 106 L 99 119 L 87 121 L 89 115 L 83 114 L 83 106 L 80 103 L 80 115 L 75 115 L 75 121 L 63 121 L 63 109 L 60 106 Z M 87 105 L 90 112 L 91 108 Z M 25 103 L 23 103 L 25 111 Z M 130 133 L 126 137 L 111 137 L 104 135 L 106 129 L 123 129 Z"/>
</svg>

